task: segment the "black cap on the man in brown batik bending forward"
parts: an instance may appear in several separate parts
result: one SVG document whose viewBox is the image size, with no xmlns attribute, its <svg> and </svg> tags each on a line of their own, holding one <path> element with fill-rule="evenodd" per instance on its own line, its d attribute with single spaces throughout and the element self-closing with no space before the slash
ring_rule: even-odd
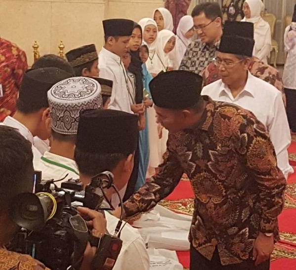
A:
<svg viewBox="0 0 296 270">
<path fill-rule="evenodd" d="M 149 83 L 156 106 L 181 110 L 196 105 L 202 91 L 203 78 L 189 71 L 169 71 Z"/>
</svg>

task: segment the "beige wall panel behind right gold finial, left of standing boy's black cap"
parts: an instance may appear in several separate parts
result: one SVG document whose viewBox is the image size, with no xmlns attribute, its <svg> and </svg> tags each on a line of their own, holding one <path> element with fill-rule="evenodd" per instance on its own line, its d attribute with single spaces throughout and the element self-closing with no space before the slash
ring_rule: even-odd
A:
<svg viewBox="0 0 296 270">
<path fill-rule="evenodd" d="M 95 43 L 99 51 L 103 44 L 104 11 L 103 1 L 53 1 L 51 52 L 58 52 L 60 40 L 65 45 L 64 52 L 89 43 Z"/>
</svg>

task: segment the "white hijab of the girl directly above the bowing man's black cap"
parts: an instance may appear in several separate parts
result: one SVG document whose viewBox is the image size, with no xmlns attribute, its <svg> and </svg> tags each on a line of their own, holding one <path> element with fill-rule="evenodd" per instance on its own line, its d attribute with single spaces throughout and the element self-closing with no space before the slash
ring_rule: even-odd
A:
<svg viewBox="0 0 296 270">
<path fill-rule="evenodd" d="M 168 67 L 172 67 L 172 63 L 169 60 L 169 53 L 165 53 L 164 49 L 171 37 L 174 37 L 174 33 L 164 29 L 158 33 L 157 45 L 156 45 L 156 57 L 155 57 L 155 72 L 166 72 Z"/>
</svg>

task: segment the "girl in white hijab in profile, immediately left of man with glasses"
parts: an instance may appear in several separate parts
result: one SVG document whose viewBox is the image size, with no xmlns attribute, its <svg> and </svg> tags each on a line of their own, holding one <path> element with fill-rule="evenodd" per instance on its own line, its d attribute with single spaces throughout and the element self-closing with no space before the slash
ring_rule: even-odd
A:
<svg viewBox="0 0 296 270">
<path fill-rule="evenodd" d="M 177 38 L 175 45 L 175 59 L 174 69 L 177 70 L 181 64 L 184 53 L 188 45 L 192 41 L 194 34 L 193 30 L 193 18 L 190 15 L 185 15 L 180 19 L 177 27 Z"/>
</svg>

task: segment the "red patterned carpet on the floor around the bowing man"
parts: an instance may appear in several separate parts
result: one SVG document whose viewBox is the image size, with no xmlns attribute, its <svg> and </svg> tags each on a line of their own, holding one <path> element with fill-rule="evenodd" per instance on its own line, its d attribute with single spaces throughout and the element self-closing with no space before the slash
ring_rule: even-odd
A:
<svg viewBox="0 0 296 270">
<path fill-rule="evenodd" d="M 289 160 L 292 166 L 296 166 L 296 135 L 292 135 L 292 141 Z M 296 167 L 294 170 L 287 181 L 285 207 L 279 216 L 281 240 L 275 244 L 270 270 L 296 270 Z M 175 191 L 160 204 L 176 213 L 193 214 L 194 195 L 186 175 L 183 175 Z M 188 270 L 189 251 L 177 252 L 177 255 L 184 270 Z"/>
</svg>

